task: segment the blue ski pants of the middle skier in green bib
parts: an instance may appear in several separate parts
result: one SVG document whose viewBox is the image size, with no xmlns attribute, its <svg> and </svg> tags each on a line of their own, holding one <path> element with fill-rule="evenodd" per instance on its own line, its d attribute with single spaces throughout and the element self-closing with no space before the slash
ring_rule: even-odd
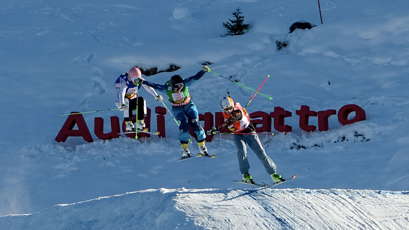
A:
<svg viewBox="0 0 409 230">
<path fill-rule="evenodd" d="M 193 102 L 185 106 L 172 107 L 172 114 L 176 120 L 180 121 L 179 141 L 189 141 L 190 125 L 193 127 L 197 140 L 201 141 L 206 138 L 205 130 L 203 130 L 202 125 L 199 123 L 198 109 L 196 109 L 196 105 Z"/>
</svg>

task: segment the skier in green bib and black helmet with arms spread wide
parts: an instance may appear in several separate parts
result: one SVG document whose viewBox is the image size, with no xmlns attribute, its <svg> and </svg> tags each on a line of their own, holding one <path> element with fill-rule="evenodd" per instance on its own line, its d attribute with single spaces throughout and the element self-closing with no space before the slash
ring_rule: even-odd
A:
<svg viewBox="0 0 409 230">
<path fill-rule="evenodd" d="M 195 133 L 196 141 L 198 141 L 201 154 L 208 156 L 205 146 L 205 130 L 199 123 L 199 112 L 189 95 L 188 87 L 199 80 L 206 72 L 210 71 L 208 66 L 203 66 L 203 69 L 196 75 L 183 79 L 180 75 L 174 75 L 164 85 L 155 84 L 146 80 L 139 80 L 139 83 L 152 87 L 159 92 L 169 96 L 169 102 L 172 104 L 172 114 L 179 121 L 179 137 L 180 145 L 182 146 L 182 159 L 191 157 L 188 143 L 189 130 L 192 125 Z"/>
</svg>

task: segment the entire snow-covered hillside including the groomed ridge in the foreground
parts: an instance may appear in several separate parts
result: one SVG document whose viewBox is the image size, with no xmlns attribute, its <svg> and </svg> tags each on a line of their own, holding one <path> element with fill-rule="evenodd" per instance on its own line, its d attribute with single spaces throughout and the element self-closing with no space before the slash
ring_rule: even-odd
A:
<svg viewBox="0 0 409 230">
<path fill-rule="evenodd" d="M 0 229 L 409 229 L 409 2 L 320 3 L 322 25 L 316 1 L 3 1 Z M 222 38 L 222 22 L 238 7 L 248 33 Z M 317 27 L 288 33 L 298 20 Z M 288 47 L 277 50 L 277 40 Z M 113 83 L 131 67 L 181 67 L 146 77 L 163 84 L 206 62 L 252 89 L 270 75 L 260 92 L 273 100 L 257 95 L 247 110 L 292 112 L 292 132 L 273 128 L 260 138 L 278 172 L 297 179 L 240 196 L 252 190 L 231 182 L 241 178 L 231 135 L 206 144 L 217 158 L 175 163 L 179 130 L 169 114 L 162 139 L 98 140 L 94 118 L 109 132 L 110 117 L 121 116 L 110 111 L 83 115 L 93 143 L 54 141 L 66 120 L 60 114 L 115 108 Z M 219 112 L 227 91 L 242 105 L 254 94 L 212 73 L 189 90 L 201 114 Z M 162 106 L 140 94 L 149 108 Z M 366 120 L 342 126 L 330 116 L 326 132 L 299 128 L 301 105 L 347 104 L 362 107 Z M 248 156 L 255 181 L 271 183 Z M 57 205 L 64 203 L 73 205 Z"/>
</svg>

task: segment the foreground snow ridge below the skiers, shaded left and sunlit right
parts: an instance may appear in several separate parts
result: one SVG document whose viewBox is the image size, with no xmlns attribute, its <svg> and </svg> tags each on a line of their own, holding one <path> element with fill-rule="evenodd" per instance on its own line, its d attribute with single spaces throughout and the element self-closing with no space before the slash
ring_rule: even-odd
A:
<svg viewBox="0 0 409 230">
<path fill-rule="evenodd" d="M 2 229 L 406 230 L 408 192 L 158 189 L 0 218 Z"/>
</svg>

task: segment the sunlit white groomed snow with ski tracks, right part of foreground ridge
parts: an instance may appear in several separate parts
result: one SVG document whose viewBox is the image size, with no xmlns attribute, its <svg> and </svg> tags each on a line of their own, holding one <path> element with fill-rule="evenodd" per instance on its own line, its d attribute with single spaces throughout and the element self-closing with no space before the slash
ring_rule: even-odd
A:
<svg viewBox="0 0 409 230">
<path fill-rule="evenodd" d="M 176 208 L 205 229 L 407 229 L 409 197 L 371 190 L 246 190 L 180 193 Z M 228 201 L 226 196 L 236 197 Z M 401 215 L 394 207 L 400 207 Z M 377 210 L 377 211 L 374 211 Z"/>
</svg>

